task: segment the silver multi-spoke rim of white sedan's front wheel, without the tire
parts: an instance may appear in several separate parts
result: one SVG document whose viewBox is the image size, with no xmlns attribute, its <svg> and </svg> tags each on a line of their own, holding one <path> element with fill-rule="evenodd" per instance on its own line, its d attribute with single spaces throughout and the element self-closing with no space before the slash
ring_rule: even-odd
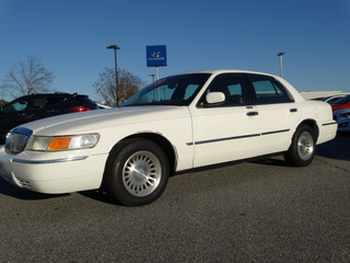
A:
<svg viewBox="0 0 350 263">
<path fill-rule="evenodd" d="M 135 196 L 147 196 L 159 185 L 162 176 L 160 160 L 150 151 L 138 151 L 122 168 L 122 183 Z"/>
</svg>

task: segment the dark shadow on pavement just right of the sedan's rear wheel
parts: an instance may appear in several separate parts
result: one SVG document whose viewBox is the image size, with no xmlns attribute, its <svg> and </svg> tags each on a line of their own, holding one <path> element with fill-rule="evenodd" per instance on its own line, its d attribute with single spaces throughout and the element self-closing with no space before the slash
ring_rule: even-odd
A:
<svg viewBox="0 0 350 263">
<path fill-rule="evenodd" d="M 317 146 L 316 155 L 330 159 L 350 161 L 350 134 L 338 133 L 335 139 Z"/>
</svg>

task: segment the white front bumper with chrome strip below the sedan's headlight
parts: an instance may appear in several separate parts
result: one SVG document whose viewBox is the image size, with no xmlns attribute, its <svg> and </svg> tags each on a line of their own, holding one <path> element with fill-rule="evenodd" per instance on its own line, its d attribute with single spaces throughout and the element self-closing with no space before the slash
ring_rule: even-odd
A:
<svg viewBox="0 0 350 263">
<path fill-rule="evenodd" d="M 86 153 L 23 151 L 12 156 L 0 147 L 0 176 L 22 188 L 45 194 L 98 188 L 107 155 Z"/>
</svg>

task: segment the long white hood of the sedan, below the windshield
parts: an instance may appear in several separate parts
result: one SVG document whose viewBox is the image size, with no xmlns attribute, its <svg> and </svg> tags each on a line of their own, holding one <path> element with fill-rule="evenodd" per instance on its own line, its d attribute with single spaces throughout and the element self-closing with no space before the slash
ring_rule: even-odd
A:
<svg viewBox="0 0 350 263">
<path fill-rule="evenodd" d="M 187 106 L 135 106 L 65 114 L 22 125 L 35 135 L 93 133 L 128 124 L 188 117 Z"/>
</svg>

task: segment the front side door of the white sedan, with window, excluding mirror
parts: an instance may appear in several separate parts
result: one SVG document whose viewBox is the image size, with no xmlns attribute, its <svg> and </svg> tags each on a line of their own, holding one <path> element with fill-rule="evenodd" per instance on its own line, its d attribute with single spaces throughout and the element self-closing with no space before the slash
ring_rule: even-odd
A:
<svg viewBox="0 0 350 263">
<path fill-rule="evenodd" d="M 222 92 L 225 101 L 208 104 L 206 95 Z M 258 152 L 260 134 L 256 107 L 245 78 L 240 73 L 218 75 L 196 106 L 192 117 L 194 167 L 253 157 Z"/>
</svg>

